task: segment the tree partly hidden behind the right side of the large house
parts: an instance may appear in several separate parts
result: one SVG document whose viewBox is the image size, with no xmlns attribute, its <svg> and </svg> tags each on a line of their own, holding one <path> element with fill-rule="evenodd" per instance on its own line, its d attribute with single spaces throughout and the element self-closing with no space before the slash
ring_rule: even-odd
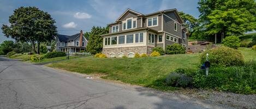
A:
<svg viewBox="0 0 256 109">
<path fill-rule="evenodd" d="M 192 33 L 194 32 L 194 28 L 198 27 L 197 18 L 193 17 L 192 15 L 185 14 L 182 11 L 178 12 L 178 14 L 181 16 L 182 20 L 184 21 L 185 27 L 188 29 L 190 35 L 192 35 Z"/>
</svg>

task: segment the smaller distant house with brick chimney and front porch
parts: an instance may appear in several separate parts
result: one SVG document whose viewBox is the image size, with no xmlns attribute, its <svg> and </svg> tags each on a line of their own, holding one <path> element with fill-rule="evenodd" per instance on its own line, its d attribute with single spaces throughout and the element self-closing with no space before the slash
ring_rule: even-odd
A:
<svg viewBox="0 0 256 109">
<path fill-rule="evenodd" d="M 57 52 L 67 52 L 67 53 L 78 53 L 81 50 L 85 50 L 88 39 L 82 34 L 82 30 L 80 33 L 68 36 L 68 35 L 57 35 Z"/>
</svg>

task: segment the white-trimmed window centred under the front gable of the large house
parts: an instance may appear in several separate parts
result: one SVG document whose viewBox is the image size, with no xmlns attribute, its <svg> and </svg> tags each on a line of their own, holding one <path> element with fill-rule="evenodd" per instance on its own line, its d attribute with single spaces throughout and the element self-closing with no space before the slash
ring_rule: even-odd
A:
<svg viewBox="0 0 256 109">
<path fill-rule="evenodd" d="M 137 18 L 127 18 L 126 21 L 123 21 L 123 30 L 129 30 L 137 28 Z"/>
</svg>

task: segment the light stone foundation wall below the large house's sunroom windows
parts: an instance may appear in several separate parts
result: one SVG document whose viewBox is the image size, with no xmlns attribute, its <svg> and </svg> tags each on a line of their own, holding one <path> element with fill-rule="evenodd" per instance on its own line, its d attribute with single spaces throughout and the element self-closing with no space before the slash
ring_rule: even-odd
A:
<svg viewBox="0 0 256 109">
<path fill-rule="evenodd" d="M 150 49 L 151 49 L 151 52 L 152 52 L 152 47 L 148 47 L 148 50 L 150 50 Z M 116 57 L 118 57 L 118 53 L 123 53 L 123 55 L 128 56 L 128 53 L 146 54 L 147 50 L 146 50 L 146 46 L 143 46 L 143 47 L 123 47 L 123 48 L 103 48 L 102 53 L 105 54 L 107 57 L 110 57 L 110 53 L 114 53 L 114 55 Z"/>
</svg>

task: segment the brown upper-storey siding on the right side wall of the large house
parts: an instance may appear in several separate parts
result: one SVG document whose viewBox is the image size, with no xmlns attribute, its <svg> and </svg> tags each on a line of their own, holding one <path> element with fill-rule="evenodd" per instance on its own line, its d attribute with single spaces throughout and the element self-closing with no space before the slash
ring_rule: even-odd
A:
<svg viewBox="0 0 256 109">
<path fill-rule="evenodd" d="M 181 37 L 181 24 L 177 23 L 177 31 L 174 30 L 174 21 L 164 15 L 163 31 Z"/>
</svg>

